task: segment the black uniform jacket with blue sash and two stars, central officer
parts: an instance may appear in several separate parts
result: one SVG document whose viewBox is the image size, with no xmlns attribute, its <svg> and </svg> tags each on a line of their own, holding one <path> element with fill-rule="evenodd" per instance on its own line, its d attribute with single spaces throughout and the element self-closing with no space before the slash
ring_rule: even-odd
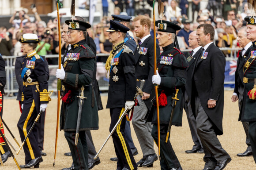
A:
<svg viewBox="0 0 256 170">
<path fill-rule="evenodd" d="M 124 45 L 124 42 L 114 47 L 112 54 L 106 108 L 124 108 L 125 101 L 135 100 L 135 58 L 132 50 Z"/>
</svg>

